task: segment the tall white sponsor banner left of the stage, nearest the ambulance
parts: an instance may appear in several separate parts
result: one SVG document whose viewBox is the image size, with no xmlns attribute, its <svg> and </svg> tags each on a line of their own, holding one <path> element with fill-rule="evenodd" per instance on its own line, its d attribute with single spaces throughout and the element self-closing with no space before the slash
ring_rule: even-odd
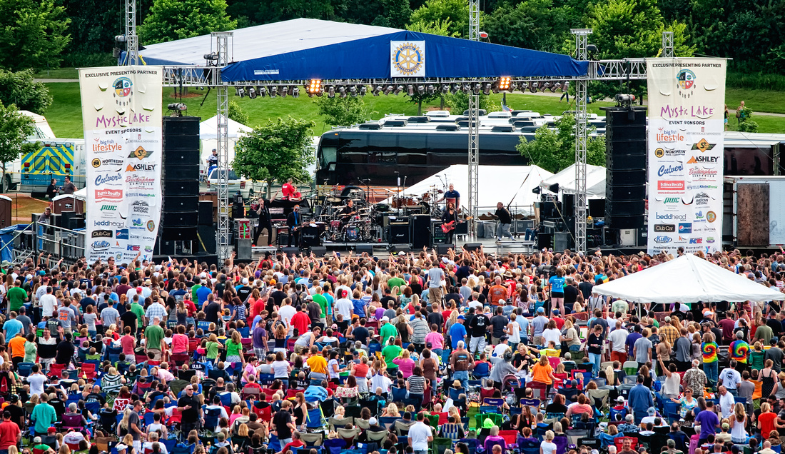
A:
<svg viewBox="0 0 785 454">
<path fill-rule="evenodd" d="M 81 68 L 89 262 L 152 258 L 161 218 L 163 69 Z"/>
</svg>

